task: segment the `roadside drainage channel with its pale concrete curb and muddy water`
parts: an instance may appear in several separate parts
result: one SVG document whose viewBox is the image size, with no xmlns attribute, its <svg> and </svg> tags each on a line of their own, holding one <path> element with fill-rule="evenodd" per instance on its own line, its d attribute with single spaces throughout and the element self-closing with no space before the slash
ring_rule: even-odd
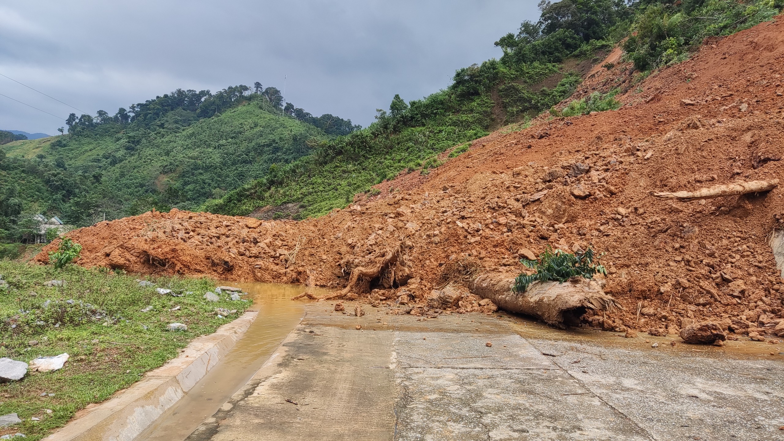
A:
<svg viewBox="0 0 784 441">
<path fill-rule="evenodd" d="M 301 304 L 289 301 L 303 292 L 303 286 L 228 284 L 251 293 L 255 311 L 191 341 L 176 359 L 86 410 L 46 440 L 187 438 L 256 373 L 304 314 Z M 256 320 L 259 316 L 262 319 Z"/>
</svg>

